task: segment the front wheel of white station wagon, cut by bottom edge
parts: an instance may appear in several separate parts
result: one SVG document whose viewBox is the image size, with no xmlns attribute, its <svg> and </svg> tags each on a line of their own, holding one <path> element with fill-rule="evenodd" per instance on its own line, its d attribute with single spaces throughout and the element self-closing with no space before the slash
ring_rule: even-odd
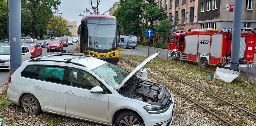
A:
<svg viewBox="0 0 256 126">
<path fill-rule="evenodd" d="M 140 126 L 143 123 L 142 118 L 131 111 L 120 112 L 116 118 L 115 126 Z"/>
</svg>

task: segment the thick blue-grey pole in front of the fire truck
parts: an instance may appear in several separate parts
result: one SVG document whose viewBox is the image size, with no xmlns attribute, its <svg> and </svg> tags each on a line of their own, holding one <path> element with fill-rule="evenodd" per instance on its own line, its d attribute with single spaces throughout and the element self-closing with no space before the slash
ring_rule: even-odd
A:
<svg viewBox="0 0 256 126">
<path fill-rule="evenodd" d="M 233 12 L 233 26 L 232 26 L 232 42 L 231 42 L 231 59 L 230 69 L 238 71 L 239 64 L 239 53 L 240 53 L 240 36 L 241 36 L 241 22 L 242 22 L 242 0 L 234 1 L 234 12 Z M 237 63 L 237 64 L 235 64 Z"/>
</svg>

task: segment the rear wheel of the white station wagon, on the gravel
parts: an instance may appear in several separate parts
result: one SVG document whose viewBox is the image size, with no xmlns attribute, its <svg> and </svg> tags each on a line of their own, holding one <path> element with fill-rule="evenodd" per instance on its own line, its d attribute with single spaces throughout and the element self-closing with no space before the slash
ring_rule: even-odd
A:
<svg viewBox="0 0 256 126">
<path fill-rule="evenodd" d="M 21 108 L 30 114 L 40 114 L 41 107 L 37 98 L 31 94 L 25 94 L 21 99 Z"/>
</svg>

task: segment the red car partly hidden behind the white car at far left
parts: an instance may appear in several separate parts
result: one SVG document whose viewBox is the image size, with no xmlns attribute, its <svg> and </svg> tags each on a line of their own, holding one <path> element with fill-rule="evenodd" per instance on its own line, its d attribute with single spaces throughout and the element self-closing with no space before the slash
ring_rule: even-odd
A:
<svg viewBox="0 0 256 126">
<path fill-rule="evenodd" d="M 38 43 L 23 43 L 22 45 L 29 47 L 32 57 L 37 57 L 42 54 L 42 47 Z"/>
</svg>

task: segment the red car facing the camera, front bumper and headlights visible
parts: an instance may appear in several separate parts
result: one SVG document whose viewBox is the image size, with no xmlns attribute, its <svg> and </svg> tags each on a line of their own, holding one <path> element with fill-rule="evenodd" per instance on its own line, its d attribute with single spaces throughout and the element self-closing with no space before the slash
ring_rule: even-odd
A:
<svg viewBox="0 0 256 126">
<path fill-rule="evenodd" d="M 59 39 L 54 39 L 54 40 L 51 40 L 47 44 L 46 48 L 47 48 L 47 52 L 49 52 L 49 51 L 61 51 L 63 49 L 63 43 Z"/>
</svg>

